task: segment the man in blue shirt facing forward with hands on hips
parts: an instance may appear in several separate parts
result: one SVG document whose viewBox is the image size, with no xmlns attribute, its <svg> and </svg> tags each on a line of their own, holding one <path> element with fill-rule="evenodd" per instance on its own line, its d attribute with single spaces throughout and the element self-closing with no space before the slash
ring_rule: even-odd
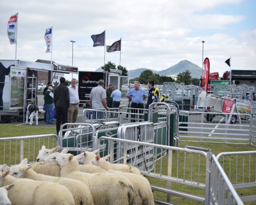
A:
<svg viewBox="0 0 256 205">
<path fill-rule="evenodd" d="M 139 84 L 139 81 L 134 81 L 134 89 L 127 93 L 127 98 L 131 101 L 131 108 L 144 109 L 143 100 L 146 100 L 148 95 L 144 90 L 139 88 Z M 131 109 L 132 113 L 138 113 L 138 111 L 142 114 L 142 110 Z M 131 122 L 135 122 L 135 115 L 132 115 L 131 117 Z"/>
</svg>

